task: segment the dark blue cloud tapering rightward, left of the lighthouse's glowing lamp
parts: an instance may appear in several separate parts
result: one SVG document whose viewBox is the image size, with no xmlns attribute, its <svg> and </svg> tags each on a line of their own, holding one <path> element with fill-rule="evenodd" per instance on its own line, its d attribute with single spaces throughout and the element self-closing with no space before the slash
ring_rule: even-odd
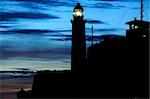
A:
<svg viewBox="0 0 150 99">
<path fill-rule="evenodd" d="M 60 17 L 43 14 L 43 13 L 31 13 L 31 12 L 0 12 L 0 21 L 9 21 L 15 19 L 58 19 Z"/>
</svg>

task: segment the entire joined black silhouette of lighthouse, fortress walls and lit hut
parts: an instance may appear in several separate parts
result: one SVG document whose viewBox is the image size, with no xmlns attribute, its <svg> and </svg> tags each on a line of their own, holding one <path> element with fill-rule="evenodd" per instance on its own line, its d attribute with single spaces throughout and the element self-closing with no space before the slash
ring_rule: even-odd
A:
<svg viewBox="0 0 150 99">
<path fill-rule="evenodd" d="M 21 90 L 18 98 L 149 98 L 149 22 L 127 22 L 126 36 L 101 36 L 86 59 L 79 3 L 73 17 L 71 70 L 37 72 L 32 92 Z"/>
</svg>

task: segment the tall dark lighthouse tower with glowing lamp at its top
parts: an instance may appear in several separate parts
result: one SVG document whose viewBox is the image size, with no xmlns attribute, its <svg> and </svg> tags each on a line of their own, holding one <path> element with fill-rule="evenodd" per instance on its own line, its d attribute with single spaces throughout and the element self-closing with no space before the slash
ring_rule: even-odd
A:
<svg viewBox="0 0 150 99">
<path fill-rule="evenodd" d="M 72 52 L 71 70 L 79 72 L 86 62 L 85 20 L 83 19 L 83 7 L 77 3 L 73 9 L 72 23 Z"/>
</svg>

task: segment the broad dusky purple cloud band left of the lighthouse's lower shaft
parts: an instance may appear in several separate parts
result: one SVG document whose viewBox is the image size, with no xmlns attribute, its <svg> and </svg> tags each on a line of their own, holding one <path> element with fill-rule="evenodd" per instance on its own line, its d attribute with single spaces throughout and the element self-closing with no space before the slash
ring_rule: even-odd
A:
<svg viewBox="0 0 150 99">
<path fill-rule="evenodd" d="M 34 61 L 52 61 L 52 60 L 61 60 L 70 55 L 69 48 L 51 48 L 47 51 L 39 51 L 37 50 L 28 50 L 28 51 L 11 51 L 7 48 L 4 48 L 1 51 L 0 57 L 1 60 L 34 60 Z"/>
</svg>

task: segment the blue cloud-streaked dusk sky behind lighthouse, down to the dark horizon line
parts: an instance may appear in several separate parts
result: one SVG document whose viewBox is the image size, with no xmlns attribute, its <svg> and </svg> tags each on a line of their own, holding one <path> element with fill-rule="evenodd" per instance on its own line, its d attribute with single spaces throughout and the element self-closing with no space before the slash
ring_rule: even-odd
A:
<svg viewBox="0 0 150 99">
<path fill-rule="evenodd" d="M 126 22 L 140 19 L 140 0 L 0 0 L 0 71 L 70 69 L 71 19 L 76 3 L 84 8 L 87 47 L 94 41 L 124 35 Z M 144 0 L 144 20 L 150 21 Z"/>
</svg>

